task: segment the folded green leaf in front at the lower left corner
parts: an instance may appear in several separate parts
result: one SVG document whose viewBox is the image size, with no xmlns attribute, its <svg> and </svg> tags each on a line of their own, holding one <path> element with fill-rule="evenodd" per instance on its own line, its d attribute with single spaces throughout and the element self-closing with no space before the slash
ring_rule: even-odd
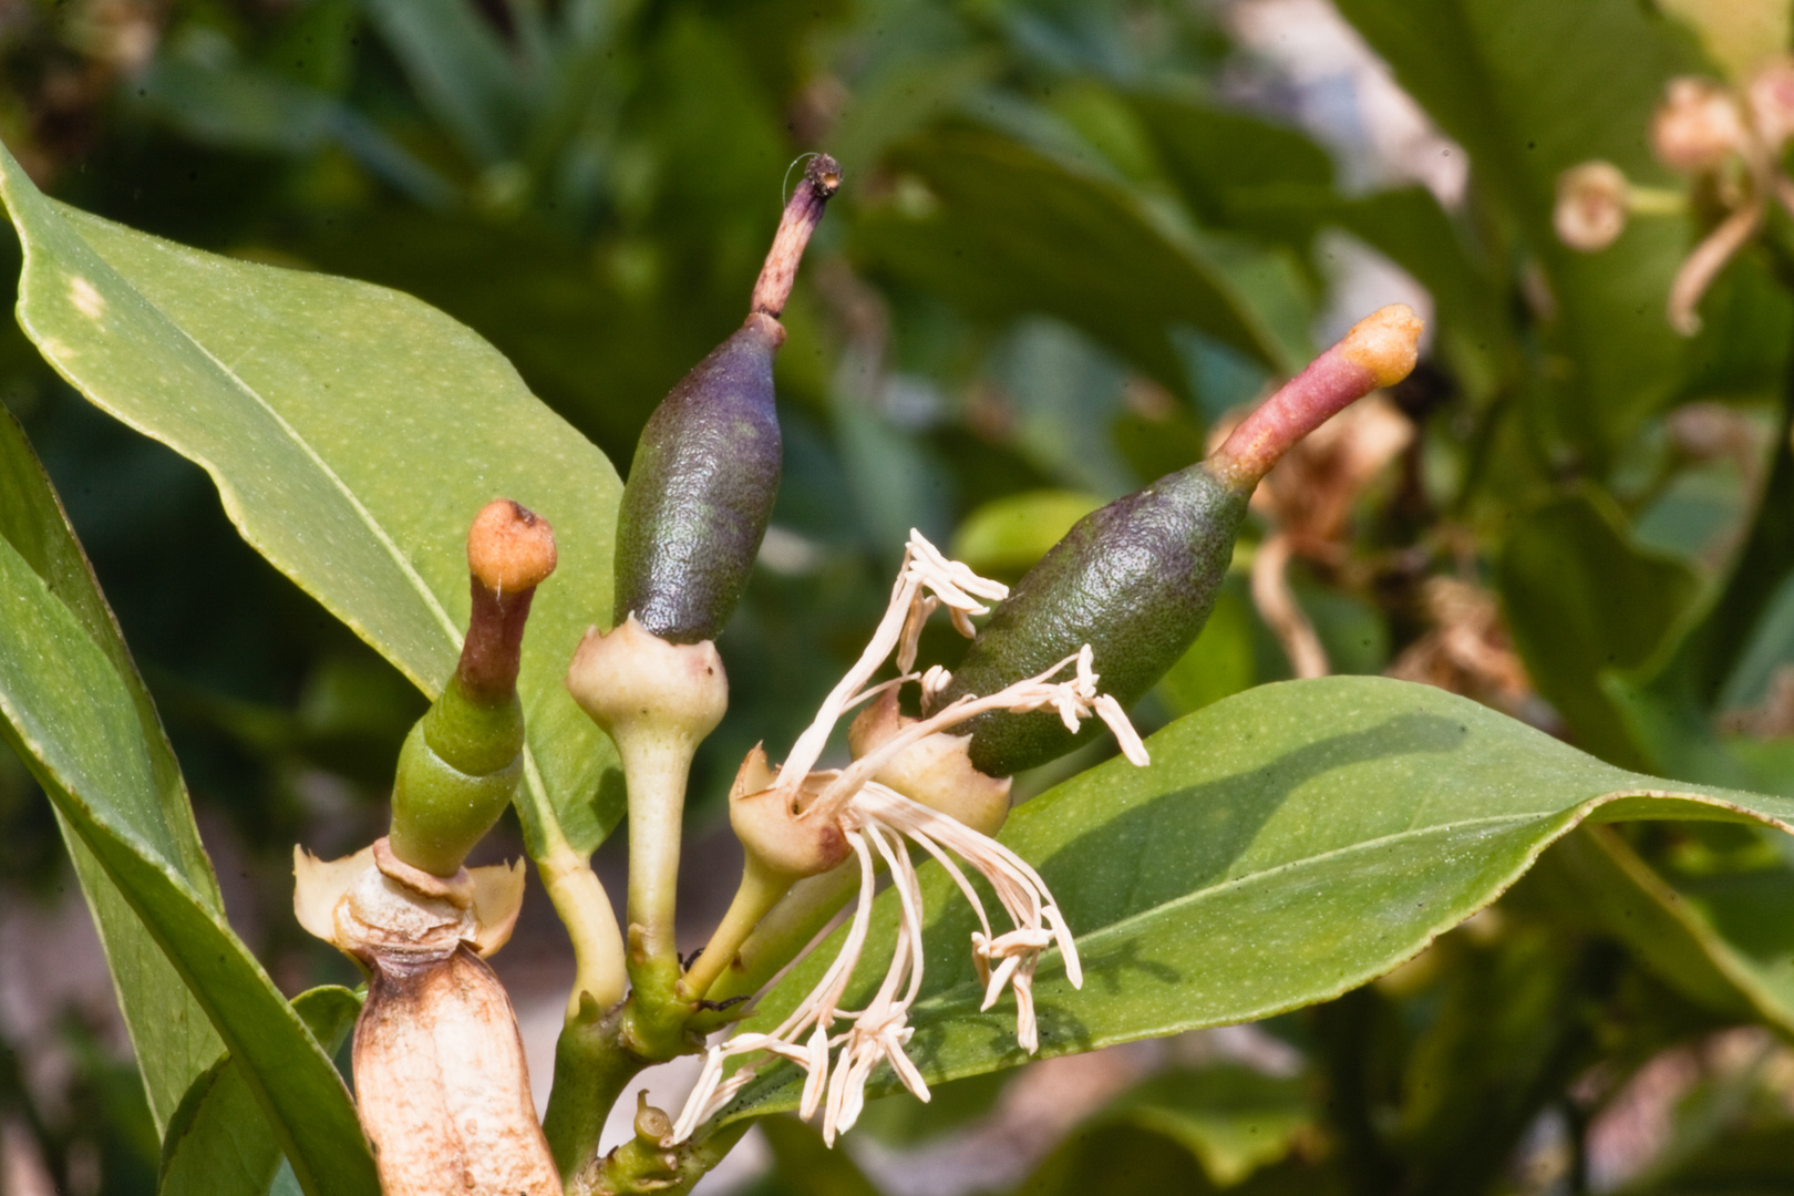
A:
<svg viewBox="0 0 1794 1196">
<path fill-rule="evenodd" d="M 0 542 L 4 733 L 205 1010 L 310 1196 L 375 1196 L 343 1079 L 187 875 L 142 712 L 118 665 L 30 563 Z M 120 974 L 120 983 L 131 983 Z"/>
</svg>

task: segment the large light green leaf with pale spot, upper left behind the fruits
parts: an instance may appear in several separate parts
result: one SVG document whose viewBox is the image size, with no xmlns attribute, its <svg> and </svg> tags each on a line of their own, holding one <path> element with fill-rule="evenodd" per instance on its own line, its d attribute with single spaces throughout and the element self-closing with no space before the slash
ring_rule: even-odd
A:
<svg viewBox="0 0 1794 1196">
<path fill-rule="evenodd" d="M 502 495 L 547 516 L 560 570 L 524 640 L 518 812 L 536 859 L 597 846 L 623 812 L 615 755 L 562 676 L 610 617 L 603 454 L 409 296 L 135 233 L 45 199 L 5 154 L 0 195 L 25 247 L 20 323 L 50 364 L 205 466 L 244 538 L 427 694 L 459 654 L 474 513 Z"/>
</svg>

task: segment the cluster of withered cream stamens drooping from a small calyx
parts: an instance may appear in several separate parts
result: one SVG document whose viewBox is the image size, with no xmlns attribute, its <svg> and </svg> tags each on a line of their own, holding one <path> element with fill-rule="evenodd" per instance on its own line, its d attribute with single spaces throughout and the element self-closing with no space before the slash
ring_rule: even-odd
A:
<svg viewBox="0 0 1794 1196">
<path fill-rule="evenodd" d="M 902 726 L 845 769 L 814 771 L 829 733 L 852 706 L 908 681 L 917 681 L 933 692 L 944 689 L 947 674 L 942 669 L 913 672 L 917 640 L 929 613 L 945 606 L 954 626 L 963 635 L 972 635 L 971 615 L 985 613 L 983 601 L 999 601 L 1005 595 L 1005 586 L 947 559 L 920 533 L 911 531 L 884 619 L 859 662 L 823 701 L 816 721 L 798 737 L 791 757 L 777 775 L 771 775 L 759 751 L 743 766 L 732 796 L 732 812 L 750 861 L 804 859 L 809 864 L 802 871 L 791 866 L 797 875 L 804 875 L 834 866 L 852 854 L 859 862 L 859 904 L 840 954 L 777 1029 L 737 1033 L 710 1047 L 698 1085 L 675 1126 L 675 1140 L 687 1139 L 752 1079 L 757 1063 L 723 1078 L 725 1063 L 736 1056 L 784 1058 L 804 1067 L 807 1079 L 802 1114 L 809 1117 L 818 1108 L 823 1110 L 822 1131 L 831 1144 L 859 1117 L 867 1079 L 879 1062 L 888 1060 L 904 1087 L 927 1099 L 922 1074 L 904 1054 L 913 1033 L 908 1026 L 910 1006 L 922 984 L 922 889 L 906 841 L 940 861 L 976 911 L 981 929 L 972 932 L 972 956 L 987 986 L 983 1008 L 996 1004 L 1005 986 L 1012 988 L 1017 1004 L 1015 1036 L 1026 1051 L 1033 1053 L 1039 1047 L 1032 983 L 1041 952 L 1057 945 L 1073 986 L 1082 984 L 1071 932 L 1041 875 L 994 839 L 949 814 L 906 798 L 874 776 L 913 744 L 988 710 L 1051 708 L 1071 732 L 1078 730 L 1082 719 L 1098 717 L 1114 730 L 1123 753 L 1134 764 L 1146 764 L 1146 748 L 1121 705 L 1112 696 L 1098 692 L 1089 647 L 996 694 L 962 696 L 936 714 Z M 872 685 L 870 678 L 893 653 L 899 676 Z M 1069 676 L 1062 678 L 1066 672 Z M 793 852 L 791 843 L 822 846 Z M 1012 929 L 1001 934 L 992 929 L 978 891 L 954 857 L 990 882 Z M 863 1010 L 843 1010 L 841 999 L 867 945 L 879 859 L 884 861 L 897 893 L 901 911 L 897 943 L 884 981 L 872 1001 Z M 836 1031 L 838 1022 L 847 1026 Z"/>
</svg>

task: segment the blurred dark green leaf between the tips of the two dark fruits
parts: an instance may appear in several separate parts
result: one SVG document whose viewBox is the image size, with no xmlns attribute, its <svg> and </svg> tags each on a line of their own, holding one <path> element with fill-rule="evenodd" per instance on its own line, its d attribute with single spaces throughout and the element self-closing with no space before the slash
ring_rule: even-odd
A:
<svg viewBox="0 0 1794 1196">
<path fill-rule="evenodd" d="M 888 165 L 908 185 L 854 230 L 854 247 L 883 273 L 987 319 L 1058 316 L 1179 391 L 1179 325 L 1288 364 L 1225 273 L 1107 179 L 974 129 L 904 142 Z"/>
</svg>

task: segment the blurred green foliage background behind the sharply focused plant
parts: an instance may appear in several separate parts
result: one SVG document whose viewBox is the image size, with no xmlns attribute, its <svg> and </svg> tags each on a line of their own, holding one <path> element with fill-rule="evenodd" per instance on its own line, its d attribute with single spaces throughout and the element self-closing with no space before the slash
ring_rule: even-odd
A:
<svg viewBox="0 0 1794 1196">
<path fill-rule="evenodd" d="M 701 941 L 736 764 L 858 654 L 910 527 L 1014 579 L 1389 301 L 1428 319 L 1419 369 L 1261 488 L 1143 730 L 1387 672 L 1625 767 L 1794 793 L 1789 45 L 1787 0 L 0 0 L 0 136 L 66 203 L 447 310 L 619 472 L 743 317 L 798 154 L 841 160 L 786 312 L 779 507 L 719 640 Z M 1767 149 L 1694 161 L 1659 131 L 1654 154 L 1690 75 Z M 1577 192 L 1597 160 L 1620 181 Z M 1690 335 L 1692 255 L 1717 276 Z M 289 993 L 353 983 L 291 918 L 291 848 L 379 834 L 423 699 L 11 321 L 0 402 L 156 696 L 233 923 Z M 0 1191 L 152 1192 L 70 880 L 0 755 Z M 1794 1191 L 1790 909 L 1785 837 L 1582 830 L 1333 1004 L 888 1099 L 832 1155 L 775 1121 L 703 1191 Z M 545 902 L 497 965 L 540 1087 L 570 979 Z"/>
</svg>

